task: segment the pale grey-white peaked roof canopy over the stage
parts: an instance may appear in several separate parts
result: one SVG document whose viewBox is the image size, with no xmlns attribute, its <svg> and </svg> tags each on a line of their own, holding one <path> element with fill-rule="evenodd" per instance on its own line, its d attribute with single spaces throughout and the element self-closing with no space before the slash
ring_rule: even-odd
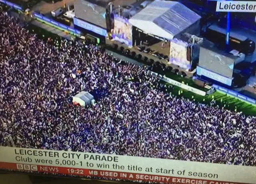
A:
<svg viewBox="0 0 256 184">
<path fill-rule="evenodd" d="M 180 2 L 155 0 L 129 19 L 140 30 L 173 39 L 201 17 Z"/>
</svg>

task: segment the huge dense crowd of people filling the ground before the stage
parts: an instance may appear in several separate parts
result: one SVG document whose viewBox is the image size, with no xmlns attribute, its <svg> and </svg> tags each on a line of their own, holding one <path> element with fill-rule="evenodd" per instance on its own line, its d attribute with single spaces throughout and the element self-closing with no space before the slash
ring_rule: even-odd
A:
<svg viewBox="0 0 256 184">
<path fill-rule="evenodd" d="M 0 12 L 0 145 L 256 166 L 256 116 L 161 90 L 90 44 L 40 40 Z M 81 91 L 96 104 L 72 104 Z"/>
</svg>

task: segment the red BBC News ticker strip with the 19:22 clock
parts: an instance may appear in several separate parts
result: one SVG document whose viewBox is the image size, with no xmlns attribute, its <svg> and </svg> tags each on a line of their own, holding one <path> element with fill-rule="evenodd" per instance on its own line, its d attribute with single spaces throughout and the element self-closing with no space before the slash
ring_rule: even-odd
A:
<svg viewBox="0 0 256 184">
<path fill-rule="evenodd" d="M 147 182 L 163 182 L 172 184 L 244 184 L 238 182 L 225 182 L 216 180 L 202 180 L 194 178 L 182 178 L 174 176 L 160 176 L 152 174 L 140 174 L 131 172 L 116 172 L 107 170 L 91 170 L 81 168 L 68 168 L 57 166 L 42 166 L 32 164 L 17 164 L 10 162 L 0 162 L 0 168 L 22 171 L 46 172 L 54 174 L 73 174 L 80 176 L 98 176 L 104 178 L 116 178 L 123 180 L 141 180 Z"/>
</svg>

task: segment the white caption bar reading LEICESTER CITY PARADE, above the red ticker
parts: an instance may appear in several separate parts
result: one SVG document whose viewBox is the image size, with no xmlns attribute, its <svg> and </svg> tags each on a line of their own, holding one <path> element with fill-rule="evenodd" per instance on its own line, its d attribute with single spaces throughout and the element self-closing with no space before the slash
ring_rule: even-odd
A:
<svg viewBox="0 0 256 184">
<path fill-rule="evenodd" d="M 253 166 L 0 146 L 1 162 L 256 184 Z"/>
</svg>

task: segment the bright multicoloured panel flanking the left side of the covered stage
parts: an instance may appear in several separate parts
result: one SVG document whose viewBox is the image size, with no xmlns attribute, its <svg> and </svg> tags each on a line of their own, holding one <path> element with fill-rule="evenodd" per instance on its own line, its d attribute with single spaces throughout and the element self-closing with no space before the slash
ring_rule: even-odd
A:
<svg viewBox="0 0 256 184">
<path fill-rule="evenodd" d="M 132 46 L 132 25 L 127 18 L 114 15 L 114 29 L 111 30 L 112 37 L 115 40 Z"/>
</svg>

